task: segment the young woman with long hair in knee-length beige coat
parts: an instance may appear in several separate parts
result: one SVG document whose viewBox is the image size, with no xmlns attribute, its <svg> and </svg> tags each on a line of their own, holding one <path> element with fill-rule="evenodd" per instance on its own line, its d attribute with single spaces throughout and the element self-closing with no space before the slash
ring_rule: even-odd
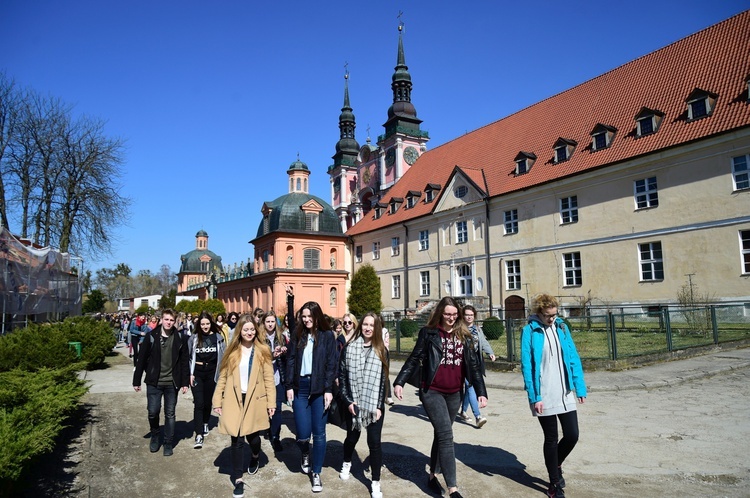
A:
<svg viewBox="0 0 750 498">
<path fill-rule="evenodd" d="M 256 341 L 252 315 L 242 315 L 221 361 L 221 373 L 212 400 L 219 415 L 219 432 L 232 437 L 231 458 L 235 498 L 244 496 L 242 440 L 250 445 L 248 473 L 258 471 L 260 435 L 270 427 L 276 411 L 271 350 Z"/>
</svg>

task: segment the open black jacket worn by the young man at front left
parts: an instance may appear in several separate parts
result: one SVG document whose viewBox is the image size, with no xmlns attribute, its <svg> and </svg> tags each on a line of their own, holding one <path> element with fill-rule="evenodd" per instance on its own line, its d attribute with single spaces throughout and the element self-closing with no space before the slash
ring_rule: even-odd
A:
<svg viewBox="0 0 750 498">
<path fill-rule="evenodd" d="M 177 388 L 190 386 L 190 353 L 188 337 L 174 329 L 172 343 L 172 379 Z M 146 335 L 138 352 L 138 363 L 133 372 L 133 385 L 140 386 L 143 372 L 146 372 L 146 384 L 156 386 L 159 383 L 161 370 L 161 325 Z"/>
</svg>

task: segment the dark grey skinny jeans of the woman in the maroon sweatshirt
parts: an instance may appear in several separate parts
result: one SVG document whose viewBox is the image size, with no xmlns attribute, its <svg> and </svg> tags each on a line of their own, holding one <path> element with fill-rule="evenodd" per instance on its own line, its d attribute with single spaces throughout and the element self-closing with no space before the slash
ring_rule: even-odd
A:
<svg viewBox="0 0 750 498">
<path fill-rule="evenodd" d="M 461 393 L 445 394 L 427 389 L 422 394 L 422 406 L 432 423 L 433 439 L 430 451 L 430 472 L 443 473 L 445 484 L 456 486 L 456 452 L 453 447 L 453 421 L 461 407 Z"/>
</svg>

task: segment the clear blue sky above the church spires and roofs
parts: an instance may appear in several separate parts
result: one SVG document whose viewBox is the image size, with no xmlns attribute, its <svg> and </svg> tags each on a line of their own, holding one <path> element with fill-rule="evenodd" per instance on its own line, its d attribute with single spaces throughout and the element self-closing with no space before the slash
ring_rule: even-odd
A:
<svg viewBox="0 0 750 498">
<path fill-rule="evenodd" d="M 96 270 L 177 271 L 195 233 L 224 264 L 252 257 L 260 208 L 339 138 L 344 64 L 356 137 L 392 103 L 399 11 L 422 128 L 435 148 L 750 7 L 747 1 L 0 1 L 0 71 L 107 121 L 132 199 Z M 11 228 L 14 228 L 11 226 Z"/>
</svg>

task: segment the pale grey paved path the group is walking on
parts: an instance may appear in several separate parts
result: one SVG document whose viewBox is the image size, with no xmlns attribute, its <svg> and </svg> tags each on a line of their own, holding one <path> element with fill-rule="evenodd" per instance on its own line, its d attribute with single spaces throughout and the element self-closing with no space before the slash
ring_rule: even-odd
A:
<svg viewBox="0 0 750 498">
<path fill-rule="evenodd" d="M 117 351 L 123 352 L 119 347 Z M 115 358 L 88 372 L 90 421 L 62 462 L 69 483 L 58 493 L 86 497 L 229 497 L 229 438 L 213 429 L 192 447 L 192 398 L 180 395 L 175 454 L 148 451 L 144 393 L 131 387 L 132 365 Z M 400 368 L 394 362 L 391 375 Z M 621 372 L 586 374 L 581 438 L 565 463 L 569 497 L 750 496 L 750 348 L 721 351 Z M 519 373 L 488 372 L 490 405 L 482 429 L 456 422 L 458 483 L 466 497 L 544 496 L 542 431 L 531 417 Z M 425 496 L 432 431 L 407 390 L 383 430 L 384 496 Z M 245 476 L 245 496 L 312 496 L 284 409 L 284 451 L 264 441 L 262 467 Z M 319 496 L 367 497 L 369 479 L 355 456 L 353 477 L 338 478 L 344 431 L 329 426 Z M 357 446 L 367 457 L 364 437 Z M 356 455 L 356 454 L 355 454 Z M 67 486 L 67 487 L 65 487 Z"/>
</svg>

